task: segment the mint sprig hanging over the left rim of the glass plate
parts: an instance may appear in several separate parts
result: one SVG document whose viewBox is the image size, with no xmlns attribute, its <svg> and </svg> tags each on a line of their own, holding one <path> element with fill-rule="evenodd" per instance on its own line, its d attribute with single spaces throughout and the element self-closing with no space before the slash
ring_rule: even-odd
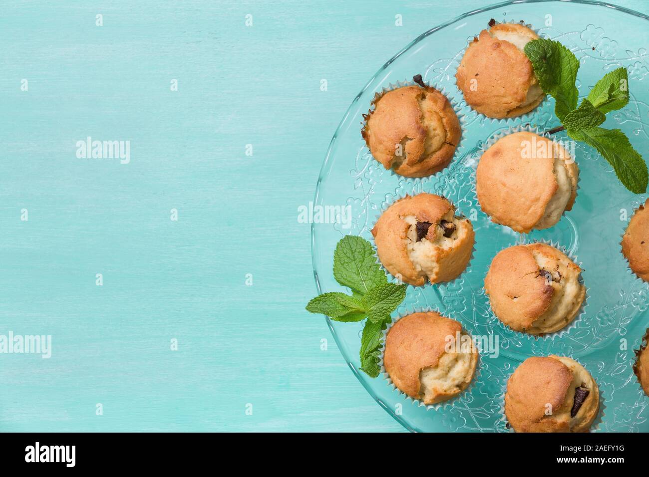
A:
<svg viewBox="0 0 649 477">
<path fill-rule="evenodd" d="M 383 344 L 382 336 L 390 314 L 406 298 L 406 286 L 388 283 L 380 269 L 369 241 L 345 236 L 334 252 L 334 278 L 349 287 L 352 295 L 341 292 L 323 293 L 312 299 L 306 310 L 322 313 L 334 321 L 361 321 L 367 318 L 361 336 L 361 371 L 376 378 Z"/>
</svg>

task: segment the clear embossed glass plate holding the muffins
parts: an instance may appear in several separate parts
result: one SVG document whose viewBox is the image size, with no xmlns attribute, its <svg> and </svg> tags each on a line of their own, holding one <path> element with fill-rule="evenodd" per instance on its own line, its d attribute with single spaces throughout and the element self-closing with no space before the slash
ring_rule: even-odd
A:
<svg viewBox="0 0 649 477">
<path fill-rule="evenodd" d="M 491 223 L 480 211 L 474 193 L 474 167 L 480 147 L 490 136 L 517 125 L 548 130 L 558 125 L 554 100 L 532 113 L 507 120 L 476 114 L 463 101 L 455 72 L 467 42 L 496 21 L 524 21 L 541 36 L 559 40 L 580 58 L 580 95 L 615 67 L 628 68 L 631 101 L 611 112 L 604 127 L 621 128 L 647 157 L 649 146 L 649 18 L 604 3 L 589 1 L 508 2 L 469 12 L 425 32 L 391 58 L 356 96 L 334 134 L 315 192 L 315 205 L 349 204 L 352 224 L 312 226 L 313 273 L 318 290 L 339 290 L 332 276 L 333 252 L 345 234 L 371 239 L 370 230 L 386 203 L 406 193 L 430 191 L 452 200 L 471 217 L 476 250 L 458 280 L 441 286 L 408 287 L 398 313 L 432 306 L 458 319 L 474 336 L 497 336 L 498 358 L 481 358 L 482 371 L 474 385 L 452 406 L 426 410 L 400 395 L 383 375 L 372 379 L 358 371 L 361 323 L 327 319 L 337 345 L 365 389 L 388 413 L 413 431 L 504 432 L 502 395 L 509 374 L 532 355 L 572 356 L 593 374 L 600 386 L 603 413 L 596 428 L 604 431 L 649 431 L 649 398 L 644 396 L 631 365 L 644 330 L 649 326 L 648 286 L 635 278 L 620 252 L 620 236 L 628 217 L 644 202 L 615 178 L 604 158 L 589 147 L 577 147 L 580 189 L 575 206 L 559 223 L 524 236 Z M 456 103 L 463 125 L 461 145 L 452 164 L 432 178 L 403 178 L 386 171 L 365 147 L 360 128 L 374 93 L 415 74 L 443 88 Z M 563 133 L 561 133 L 563 134 Z M 560 136 L 565 138 L 565 136 Z M 561 336 L 533 339 L 512 332 L 491 315 L 483 282 L 491 259 L 517 242 L 548 239 L 563 245 L 582 262 L 587 307 L 582 318 Z M 626 345 L 626 346 L 625 346 Z"/>
</svg>

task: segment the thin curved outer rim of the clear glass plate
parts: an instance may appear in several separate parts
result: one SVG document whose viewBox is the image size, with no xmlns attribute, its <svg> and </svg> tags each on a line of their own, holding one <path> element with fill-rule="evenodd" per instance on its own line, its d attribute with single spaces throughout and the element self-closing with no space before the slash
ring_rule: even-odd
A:
<svg viewBox="0 0 649 477">
<path fill-rule="evenodd" d="M 356 97 L 354 97 L 352 103 L 350 103 L 349 108 L 347 108 L 347 111 L 343 115 L 343 118 L 338 123 L 338 126 L 336 127 L 336 132 L 334 132 L 334 136 L 332 136 L 331 141 L 329 143 L 329 146 L 327 147 L 327 151 L 326 151 L 326 154 L 324 156 L 323 165 L 322 165 L 322 167 L 320 169 L 320 173 L 318 175 L 318 180 L 317 180 L 317 183 L 315 185 L 315 195 L 313 197 L 313 203 L 314 204 L 318 203 L 318 197 L 319 197 L 319 193 L 320 193 L 320 184 L 321 184 L 321 182 L 323 180 L 324 174 L 326 173 L 326 169 L 327 169 L 327 166 L 328 166 L 331 151 L 333 149 L 334 143 L 335 143 L 336 138 L 338 136 L 338 131 L 341 128 L 341 126 L 345 123 L 345 121 L 347 120 L 347 117 L 349 116 L 354 104 L 356 104 L 356 101 L 358 101 L 358 99 L 365 92 L 365 90 L 367 90 L 367 88 L 369 88 L 369 86 L 373 83 L 373 81 L 374 81 L 374 79 L 376 79 L 376 77 L 378 77 L 399 56 L 406 53 L 406 51 L 410 50 L 411 47 L 413 47 L 414 45 L 419 43 L 421 40 L 426 38 L 426 36 L 436 32 L 436 31 L 439 31 L 441 29 L 444 29 L 444 28 L 446 28 L 446 27 L 448 27 L 450 25 L 453 25 L 454 23 L 456 23 L 458 21 L 461 21 L 462 19 L 468 18 L 470 16 L 480 14 L 480 13 L 484 13 L 484 12 L 489 12 L 490 10 L 496 10 L 496 9 L 502 8 L 504 6 L 520 5 L 520 4 L 524 4 L 524 3 L 530 3 L 530 4 L 533 4 L 533 3 L 578 3 L 579 4 L 579 3 L 581 3 L 581 4 L 585 4 L 585 5 L 603 6 L 605 8 L 612 8 L 613 10 L 618 10 L 618 11 L 620 11 L 622 13 L 629 14 L 629 15 L 635 16 L 637 18 L 641 18 L 641 19 L 645 19 L 645 20 L 649 21 L 649 16 L 641 14 L 640 12 L 636 12 L 635 10 L 631 10 L 630 8 L 624 8 L 623 6 L 612 5 L 611 3 L 600 2 L 600 1 L 593 1 L 593 0 L 509 0 L 509 1 L 506 1 L 506 2 L 502 2 L 502 3 L 495 3 L 494 5 L 485 6 L 484 8 L 478 8 L 476 10 L 471 10 L 471 12 L 466 12 L 465 14 L 457 16 L 456 18 L 452 18 L 452 19 L 446 21 L 445 23 L 441 23 L 441 24 L 437 25 L 436 27 L 433 27 L 432 29 L 430 29 L 430 30 L 428 30 L 426 32 L 423 32 L 421 35 L 417 36 L 417 38 L 415 38 L 413 41 L 408 43 L 408 45 L 406 45 L 404 48 L 402 48 L 401 51 L 399 51 L 395 56 L 393 56 L 392 58 L 387 60 L 386 64 L 384 64 L 382 67 L 380 67 L 380 69 L 378 69 L 378 71 L 376 71 L 376 73 L 374 73 L 374 75 L 367 81 L 365 86 L 363 86 L 363 88 L 356 95 Z M 318 279 L 317 271 L 315 270 L 315 224 L 311 225 L 311 261 L 312 261 L 312 268 L 313 268 L 313 278 L 315 280 L 315 287 L 317 289 L 317 293 L 321 294 L 321 293 L 323 293 L 323 291 L 322 291 L 322 287 L 320 286 L 320 281 Z M 325 317 L 324 321 L 326 322 L 327 326 L 329 327 L 329 330 L 330 330 L 332 336 L 334 337 L 334 340 L 336 341 L 337 347 L 341 347 L 341 343 L 339 342 L 339 336 L 337 336 L 336 330 L 332 326 L 331 320 L 329 319 L 329 317 Z M 388 406 L 386 406 L 386 404 L 384 402 L 382 402 L 382 400 L 380 400 L 379 398 L 376 397 L 376 395 L 374 395 L 374 392 L 370 389 L 370 387 L 363 381 L 363 379 L 361 379 L 359 371 L 352 365 L 352 363 L 350 363 L 349 360 L 347 360 L 347 357 L 345 356 L 345 354 L 343 354 L 341 352 L 341 355 L 343 356 L 343 359 L 345 360 L 345 362 L 349 366 L 349 369 L 352 370 L 352 373 L 354 374 L 356 379 L 360 382 L 361 385 L 363 385 L 363 387 L 365 388 L 365 391 L 367 391 L 367 393 L 374 399 L 374 401 L 376 401 L 376 403 L 381 408 L 383 408 L 389 415 L 391 415 L 391 417 L 393 417 L 393 419 L 395 419 L 395 421 L 397 421 L 399 424 L 404 426 L 404 428 L 406 428 L 406 430 L 408 430 L 410 432 L 417 432 L 417 430 L 415 430 L 412 426 L 410 426 L 410 424 L 408 424 L 408 422 L 406 422 L 405 419 L 403 419 L 401 416 L 397 415 L 393 410 L 391 410 Z"/>
</svg>

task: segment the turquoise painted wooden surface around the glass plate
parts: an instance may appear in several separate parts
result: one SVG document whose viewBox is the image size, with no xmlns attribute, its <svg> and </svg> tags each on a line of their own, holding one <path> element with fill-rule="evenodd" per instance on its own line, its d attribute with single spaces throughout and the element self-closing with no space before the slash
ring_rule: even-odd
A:
<svg viewBox="0 0 649 477">
<path fill-rule="evenodd" d="M 402 431 L 304 311 L 297 208 L 376 70 L 489 3 L 3 3 L 0 335 L 52 356 L 0 354 L 0 430 Z"/>
</svg>

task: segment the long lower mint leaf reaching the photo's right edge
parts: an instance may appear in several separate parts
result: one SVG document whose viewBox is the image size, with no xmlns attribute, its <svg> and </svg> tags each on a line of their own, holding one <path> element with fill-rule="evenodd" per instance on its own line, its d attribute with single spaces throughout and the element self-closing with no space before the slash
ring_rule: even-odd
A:
<svg viewBox="0 0 649 477">
<path fill-rule="evenodd" d="M 643 157 L 633 149 L 624 132 L 600 127 L 581 131 L 567 130 L 576 141 L 591 145 L 613 166 L 620 182 L 633 193 L 646 192 L 649 173 Z"/>
</svg>

